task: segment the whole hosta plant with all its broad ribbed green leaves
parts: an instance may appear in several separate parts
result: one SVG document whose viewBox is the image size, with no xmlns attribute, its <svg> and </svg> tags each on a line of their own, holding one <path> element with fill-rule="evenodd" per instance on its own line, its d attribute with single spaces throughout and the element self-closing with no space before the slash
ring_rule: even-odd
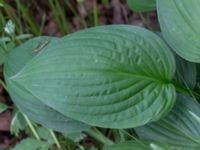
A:
<svg viewBox="0 0 200 150">
<path fill-rule="evenodd" d="M 105 149 L 199 149 L 200 1 L 131 2 L 157 9 L 160 34 L 109 25 L 30 39 L 4 57 L 8 92 L 53 130 L 131 129 L 139 138 Z"/>
</svg>

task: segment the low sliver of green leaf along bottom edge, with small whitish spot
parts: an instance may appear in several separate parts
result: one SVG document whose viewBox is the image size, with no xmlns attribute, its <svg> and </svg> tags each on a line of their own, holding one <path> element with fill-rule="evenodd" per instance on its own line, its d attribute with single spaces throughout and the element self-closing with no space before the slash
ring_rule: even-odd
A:
<svg viewBox="0 0 200 150">
<path fill-rule="evenodd" d="M 175 150 L 170 145 L 160 144 L 150 141 L 126 141 L 110 146 L 105 146 L 104 150 Z"/>
</svg>

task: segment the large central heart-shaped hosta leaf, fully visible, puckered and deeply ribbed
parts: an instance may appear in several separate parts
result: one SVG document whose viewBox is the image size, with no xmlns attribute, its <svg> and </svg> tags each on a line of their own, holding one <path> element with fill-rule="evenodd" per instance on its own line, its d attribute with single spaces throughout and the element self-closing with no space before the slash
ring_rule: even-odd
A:
<svg viewBox="0 0 200 150">
<path fill-rule="evenodd" d="M 129 128 L 171 110 L 174 72 L 174 57 L 157 35 L 113 25 L 52 43 L 7 82 L 75 120 Z"/>
</svg>

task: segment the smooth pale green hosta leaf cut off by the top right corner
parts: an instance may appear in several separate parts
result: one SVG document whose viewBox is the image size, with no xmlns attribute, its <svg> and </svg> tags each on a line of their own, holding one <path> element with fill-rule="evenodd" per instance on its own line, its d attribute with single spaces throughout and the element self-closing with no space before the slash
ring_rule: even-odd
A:
<svg viewBox="0 0 200 150">
<path fill-rule="evenodd" d="M 184 59 L 200 62 L 200 1 L 157 0 L 163 36 Z"/>
</svg>

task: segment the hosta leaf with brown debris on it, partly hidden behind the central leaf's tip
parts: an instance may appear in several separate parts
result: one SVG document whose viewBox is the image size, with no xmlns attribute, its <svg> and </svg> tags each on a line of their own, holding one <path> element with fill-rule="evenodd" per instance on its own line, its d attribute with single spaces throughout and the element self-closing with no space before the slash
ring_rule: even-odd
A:
<svg viewBox="0 0 200 150">
<path fill-rule="evenodd" d="M 9 94 L 22 112 L 43 126 L 61 132 L 80 131 L 86 129 L 87 125 L 60 114 L 42 103 L 31 92 L 9 81 L 10 76 L 15 75 L 23 69 L 34 56 L 39 54 L 39 48 L 40 52 L 42 51 L 42 45 L 45 48 L 43 43 L 49 41 L 48 44 L 50 45 L 53 42 L 56 43 L 57 40 L 50 37 L 37 37 L 11 51 L 4 66 Z M 36 48 L 37 51 L 34 51 Z"/>
</svg>

